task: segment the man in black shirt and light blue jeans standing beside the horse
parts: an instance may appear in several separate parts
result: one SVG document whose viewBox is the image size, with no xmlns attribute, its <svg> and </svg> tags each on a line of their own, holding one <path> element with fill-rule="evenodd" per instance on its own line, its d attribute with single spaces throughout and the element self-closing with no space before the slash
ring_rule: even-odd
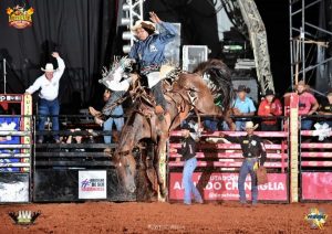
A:
<svg viewBox="0 0 332 234">
<path fill-rule="evenodd" d="M 201 195 L 193 182 L 193 173 L 197 167 L 196 159 L 196 142 L 191 135 L 195 135 L 195 129 L 188 124 L 181 127 L 184 140 L 181 142 L 181 149 L 179 153 L 185 161 L 183 171 L 183 184 L 185 187 L 185 204 L 191 204 L 191 194 L 197 203 L 203 203 Z"/>
</svg>

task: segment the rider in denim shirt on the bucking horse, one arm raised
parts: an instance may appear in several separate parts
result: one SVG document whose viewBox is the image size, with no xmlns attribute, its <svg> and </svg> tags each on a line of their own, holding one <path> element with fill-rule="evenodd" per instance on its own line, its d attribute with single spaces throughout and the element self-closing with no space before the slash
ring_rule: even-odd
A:
<svg viewBox="0 0 332 234">
<path fill-rule="evenodd" d="M 129 52 L 129 57 L 139 65 L 139 72 L 147 77 L 148 87 L 156 100 L 156 114 L 164 114 L 167 110 L 167 102 L 162 91 L 160 67 L 165 63 L 164 51 L 177 34 L 175 26 L 163 22 L 156 13 L 149 12 L 152 22 L 137 21 L 132 32 L 138 40 Z M 155 33 L 156 24 L 164 28 L 163 33 Z"/>
</svg>

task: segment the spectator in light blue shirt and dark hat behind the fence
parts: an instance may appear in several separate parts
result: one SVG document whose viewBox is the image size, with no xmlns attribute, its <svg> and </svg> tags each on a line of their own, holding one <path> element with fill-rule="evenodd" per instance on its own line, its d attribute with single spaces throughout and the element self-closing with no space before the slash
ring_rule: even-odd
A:
<svg viewBox="0 0 332 234">
<path fill-rule="evenodd" d="M 245 85 L 239 85 L 237 92 L 237 98 L 234 104 L 232 113 L 236 117 L 247 117 L 253 116 L 256 111 L 256 107 L 253 105 L 252 99 L 247 97 L 247 94 L 250 92 Z M 246 119 L 236 120 L 236 130 L 240 131 L 245 129 Z"/>
</svg>

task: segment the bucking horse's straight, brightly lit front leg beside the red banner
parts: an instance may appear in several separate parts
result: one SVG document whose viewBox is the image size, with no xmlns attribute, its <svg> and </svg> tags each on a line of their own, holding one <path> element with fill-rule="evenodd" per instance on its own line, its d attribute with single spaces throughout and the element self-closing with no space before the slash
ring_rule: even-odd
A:
<svg viewBox="0 0 332 234">
<path fill-rule="evenodd" d="M 155 158 L 154 158 L 154 168 L 157 174 L 157 181 L 159 185 L 159 192 L 163 198 L 167 196 L 167 187 L 166 187 L 166 141 L 167 137 L 163 136 L 159 138 Z"/>
</svg>

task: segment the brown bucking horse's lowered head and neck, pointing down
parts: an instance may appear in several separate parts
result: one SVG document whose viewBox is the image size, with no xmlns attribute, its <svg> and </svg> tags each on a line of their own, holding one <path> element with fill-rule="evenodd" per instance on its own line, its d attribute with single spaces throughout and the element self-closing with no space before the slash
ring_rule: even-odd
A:
<svg viewBox="0 0 332 234">
<path fill-rule="evenodd" d="M 136 160 L 135 153 L 139 140 L 151 137 L 151 129 L 146 118 L 134 110 L 129 114 L 125 126 L 122 129 L 121 137 L 116 151 L 114 153 L 113 162 L 116 172 L 120 177 L 120 182 L 128 192 L 136 190 Z M 137 150 L 138 151 L 138 150 Z"/>
</svg>

